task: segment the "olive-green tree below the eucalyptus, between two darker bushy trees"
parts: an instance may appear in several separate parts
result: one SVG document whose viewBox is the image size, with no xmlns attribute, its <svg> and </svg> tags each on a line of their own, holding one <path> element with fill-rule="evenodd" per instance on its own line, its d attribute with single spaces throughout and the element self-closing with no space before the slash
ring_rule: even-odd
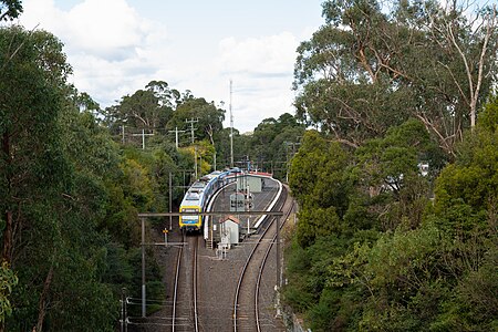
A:
<svg viewBox="0 0 498 332">
<path fill-rule="evenodd" d="M 355 151 L 356 165 L 351 169 L 351 178 L 356 190 L 345 219 L 362 220 L 361 215 L 366 212 L 370 222 L 375 220 L 370 226 L 376 225 L 382 230 L 394 230 L 405 218 L 412 227 L 418 226 L 432 181 L 430 175 L 422 176 L 419 165 L 436 169 L 438 152 L 417 120 L 391 127 L 383 138 L 366 141 Z"/>
</svg>

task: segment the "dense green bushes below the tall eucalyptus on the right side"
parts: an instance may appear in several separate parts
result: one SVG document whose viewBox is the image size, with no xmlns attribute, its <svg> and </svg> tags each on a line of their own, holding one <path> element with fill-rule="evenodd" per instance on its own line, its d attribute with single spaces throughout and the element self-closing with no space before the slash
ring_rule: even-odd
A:
<svg viewBox="0 0 498 332">
<path fill-rule="evenodd" d="M 407 133 L 416 122 L 354 152 L 304 136 L 290 174 L 301 210 L 284 297 L 313 331 L 498 328 L 497 107 L 495 97 L 458 145 L 434 200 L 417 168 L 430 142 L 422 125 Z"/>
</svg>

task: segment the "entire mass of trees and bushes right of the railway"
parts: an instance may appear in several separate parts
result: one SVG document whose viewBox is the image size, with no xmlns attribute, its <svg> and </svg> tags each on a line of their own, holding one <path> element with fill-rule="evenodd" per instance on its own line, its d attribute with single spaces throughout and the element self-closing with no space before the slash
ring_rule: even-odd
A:
<svg viewBox="0 0 498 332">
<path fill-rule="evenodd" d="M 325 1 L 299 49 L 321 131 L 291 165 L 283 298 L 312 331 L 498 329 L 496 8 L 452 6 Z"/>
</svg>

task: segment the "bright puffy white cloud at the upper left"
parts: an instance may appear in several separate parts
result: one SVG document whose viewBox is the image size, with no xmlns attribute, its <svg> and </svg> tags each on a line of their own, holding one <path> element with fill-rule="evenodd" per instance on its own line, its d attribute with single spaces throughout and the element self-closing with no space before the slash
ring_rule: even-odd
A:
<svg viewBox="0 0 498 332">
<path fill-rule="evenodd" d="M 125 0 L 85 0 L 64 12 L 53 0 L 27 0 L 22 22 L 41 23 L 53 32 L 71 53 L 85 53 L 108 60 L 133 55 L 135 48 L 157 41 L 155 31 L 164 29 L 142 19 Z"/>
</svg>

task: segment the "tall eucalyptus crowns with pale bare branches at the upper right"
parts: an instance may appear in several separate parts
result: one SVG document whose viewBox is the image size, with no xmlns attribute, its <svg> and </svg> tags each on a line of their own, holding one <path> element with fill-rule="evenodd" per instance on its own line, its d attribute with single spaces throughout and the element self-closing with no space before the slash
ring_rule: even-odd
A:
<svg viewBox="0 0 498 332">
<path fill-rule="evenodd" d="M 298 115 L 353 147 L 417 117 L 453 155 L 497 72 L 496 8 L 471 21 L 458 2 L 325 1 L 298 49 Z"/>
</svg>

